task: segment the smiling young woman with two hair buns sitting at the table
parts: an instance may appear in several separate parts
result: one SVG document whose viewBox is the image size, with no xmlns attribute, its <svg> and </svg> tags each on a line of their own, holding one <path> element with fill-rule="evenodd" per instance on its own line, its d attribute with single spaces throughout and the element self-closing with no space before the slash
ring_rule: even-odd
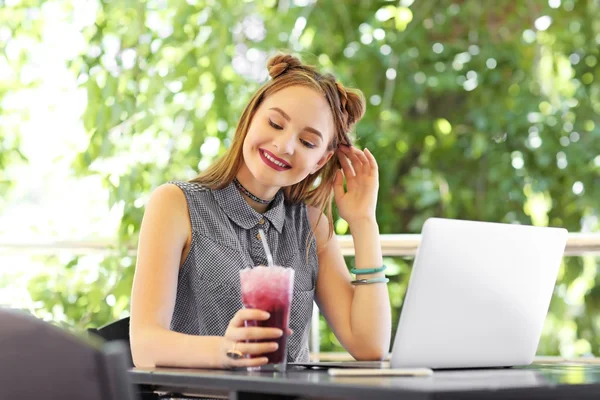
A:
<svg viewBox="0 0 600 400">
<path fill-rule="evenodd" d="M 271 79 L 246 106 L 227 154 L 190 182 L 158 187 L 148 202 L 131 299 L 136 366 L 259 366 L 277 343 L 246 341 L 290 333 L 288 361 L 308 361 L 313 300 L 353 357 L 388 352 L 377 163 L 348 136 L 364 114 L 362 94 L 290 55 L 267 66 Z M 369 284 L 352 283 L 332 197 L 352 233 L 354 272 Z M 258 229 L 275 264 L 295 269 L 288 332 L 244 327 L 269 318 L 243 309 L 240 296 L 239 270 L 266 265 Z M 232 349 L 254 357 L 230 358 Z"/>
</svg>

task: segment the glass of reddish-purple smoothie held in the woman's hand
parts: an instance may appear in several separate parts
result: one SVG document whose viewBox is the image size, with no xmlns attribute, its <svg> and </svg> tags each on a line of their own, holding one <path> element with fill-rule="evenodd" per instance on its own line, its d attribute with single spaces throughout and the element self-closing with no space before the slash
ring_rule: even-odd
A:
<svg viewBox="0 0 600 400">
<path fill-rule="evenodd" d="M 268 364 L 248 369 L 284 372 L 287 368 L 287 328 L 294 292 L 294 270 L 278 265 L 244 268 L 240 271 L 240 282 L 244 308 L 256 308 L 271 314 L 266 321 L 246 321 L 245 325 L 278 328 L 283 331 L 283 336 L 279 339 L 261 340 L 275 341 L 279 345 L 274 352 L 259 356 L 266 356 L 269 359 Z"/>
</svg>

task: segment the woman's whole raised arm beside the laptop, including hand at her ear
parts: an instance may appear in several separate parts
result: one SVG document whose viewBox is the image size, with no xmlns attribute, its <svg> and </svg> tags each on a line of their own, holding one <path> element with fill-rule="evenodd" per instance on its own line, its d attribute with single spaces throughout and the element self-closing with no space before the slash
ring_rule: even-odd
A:
<svg viewBox="0 0 600 400">
<path fill-rule="evenodd" d="M 379 228 L 375 219 L 379 172 L 369 152 L 353 146 L 340 146 L 338 171 L 333 191 L 338 212 L 350 226 L 357 269 L 382 266 Z M 346 188 L 344 188 L 344 178 Z M 317 299 L 336 337 L 352 356 L 360 360 L 381 360 L 389 351 L 391 337 L 390 300 L 385 283 L 352 286 L 348 268 L 337 239 L 328 238 L 329 222 L 320 212 L 309 209 L 319 255 Z M 360 274 L 357 278 L 383 277 Z"/>
</svg>

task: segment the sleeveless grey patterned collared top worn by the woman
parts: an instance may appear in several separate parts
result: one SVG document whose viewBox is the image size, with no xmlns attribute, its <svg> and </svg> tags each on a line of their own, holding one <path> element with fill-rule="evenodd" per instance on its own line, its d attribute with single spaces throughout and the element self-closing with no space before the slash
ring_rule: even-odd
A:
<svg viewBox="0 0 600 400">
<path fill-rule="evenodd" d="M 170 182 L 185 194 L 192 241 L 179 271 L 171 330 L 223 336 L 242 308 L 239 271 L 267 265 L 258 229 L 263 229 L 277 265 L 294 268 L 288 362 L 309 361 L 308 338 L 319 263 L 306 205 L 289 204 L 279 191 L 264 214 L 244 200 L 234 183 L 211 190 L 197 183 Z"/>
</svg>

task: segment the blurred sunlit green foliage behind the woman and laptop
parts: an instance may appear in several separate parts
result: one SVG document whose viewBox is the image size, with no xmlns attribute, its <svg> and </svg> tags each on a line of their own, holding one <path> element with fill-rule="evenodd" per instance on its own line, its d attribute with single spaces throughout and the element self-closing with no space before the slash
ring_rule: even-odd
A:
<svg viewBox="0 0 600 400">
<path fill-rule="evenodd" d="M 0 15 L 13 35 L 35 27 L 24 10 L 43 2 L 10 3 Z M 78 328 L 127 314 L 128 249 L 149 193 L 191 179 L 226 150 L 277 51 L 364 92 L 356 143 L 379 160 L 381 233 L 418 233 L 432 216 L 600 228 L 597 1 L 97 4 L 69 63 L 87 90 L 88 143 L 73 171 L 101 176 L 110 205 L 123 207 L 119 241 L 98 262 L 44 260 L 56 268 L 29 284 L 40 313 Z M 0 96 L 10 89 L 0 86 Z M 7 138 L 0 130 L 0 171 L 18 149 Z M 386 262 L 396 323 L 412 260 Z M 565 257 L 540 354 L 600 355 L 597 270 L 593 257 Z M 322 351 L 341 350 L 324 321 L 321 337 Z"/>
</svg>

